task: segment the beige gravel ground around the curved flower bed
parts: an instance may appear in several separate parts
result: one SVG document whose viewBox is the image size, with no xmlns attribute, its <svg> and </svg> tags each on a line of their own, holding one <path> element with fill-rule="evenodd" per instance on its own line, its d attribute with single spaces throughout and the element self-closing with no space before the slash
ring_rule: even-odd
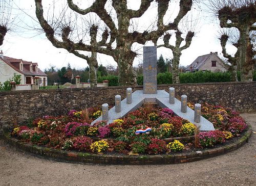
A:
<svg viewBox="0 0 256 186">
<path fill-rule="evenodd" d="M 256 131 L 256 113 L 242 114 Z M 255 133 L 236 151 L 206 160 L 154 166 L 62 163 L 0 140 L 0 185 L 256 185 Z"/>
</svg>

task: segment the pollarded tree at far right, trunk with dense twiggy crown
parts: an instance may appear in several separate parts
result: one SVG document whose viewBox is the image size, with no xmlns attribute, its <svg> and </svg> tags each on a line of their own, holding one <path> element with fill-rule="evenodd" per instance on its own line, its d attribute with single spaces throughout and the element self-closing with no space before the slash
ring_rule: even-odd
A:
<svg viewBox="0 0 256 186">
<path fill-rule="evenodd" d="M 239 30 L 238 64 L 241 66 L 241 81 L 252 81 L 253 60 L 250 32 L 256 30 L 256 2 L 254 0 L 209 0 L 210 7 L 215 10 L 221 28 L 237 28 Z M 226 36 L 225 36 L 226 37 Z M 223 39 L 223 44 L 226 39 Z"/>
</svg>

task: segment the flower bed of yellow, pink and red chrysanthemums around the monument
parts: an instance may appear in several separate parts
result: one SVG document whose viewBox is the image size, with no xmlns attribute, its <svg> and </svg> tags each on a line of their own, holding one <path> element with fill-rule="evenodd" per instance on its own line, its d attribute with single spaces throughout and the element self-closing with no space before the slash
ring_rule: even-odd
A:
<svg viewBox="0 0 256 186">
<path fill-rule="evenodd" d="M 193 104 L 188 106 L 193 109 Z M 213 148 L 239 137 L 247 129 L 239 113 L 207 103 L 202 105 L 202 115 L 214 124 L 214 131 L 198 132 L 193 123 L 175 116 L 172 110 L 151 104 L 109 125 L 99 121 L 91 126 L 90 123 L 101 114 L 97 109 L 90 108 L 72 110 L 67 116 L 44 116 L 28 123 L 29 127 L 15 126 L 11 135 L 20 141 L 53 149 L 138 155 L 176 154 Z M 166 142 L 166 139 L 175 137 L 191 138 L 194 134 L 195 138 L 190 142 Z"/>
</svg>

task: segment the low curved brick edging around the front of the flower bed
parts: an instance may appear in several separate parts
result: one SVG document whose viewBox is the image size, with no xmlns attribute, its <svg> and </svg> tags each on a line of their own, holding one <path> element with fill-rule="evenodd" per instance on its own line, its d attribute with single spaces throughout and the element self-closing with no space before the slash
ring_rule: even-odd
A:
<svg viewBox="0 0 256 186">
<path fill-rule="evenodd" d="M 222 147 L 202 150 L 200 153 L 188 152 L 180 154 L 163 154 L 163 155 L 108 155 L 108 154 L 91 154 L 82 152 L 72 152 L 64 150 L 56 150 L 47 147 L 39 147 L 31 145 L 14 138 L 10 138 L 9 134 L 4 134 L 3 139 L 6 143 L 19 148 L 23 151 L 31 152 L 36 155 L 54 158 L 57 161 L 70 161 L 94 164 L 109 165 L 164 165 L 178 164 L 186 162 L 194 162 L 203 160 L 204 158 L 214 157 L 225 154 L 242 147 L 251 136 L 252 128 L 248 125 L 245 135 L 236 142 Z"/>
</svg>

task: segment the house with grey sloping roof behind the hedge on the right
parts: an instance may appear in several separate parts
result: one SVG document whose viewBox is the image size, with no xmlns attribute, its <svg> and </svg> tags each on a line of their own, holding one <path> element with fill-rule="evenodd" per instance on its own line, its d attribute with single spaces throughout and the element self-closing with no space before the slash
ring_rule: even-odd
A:
<svg viewBox="0 0 256 186">
<path fill-rule="evenodd" d="M 197 57 L 197 59 L 191 63 L 185 71 L 195 72 L 198 70 L 209 70 L 225 72 L 227 71 L 225 67 L 226 64 L 218 56 L 218 52 L 210 52 L 210 54 Z"/>
</svg>

